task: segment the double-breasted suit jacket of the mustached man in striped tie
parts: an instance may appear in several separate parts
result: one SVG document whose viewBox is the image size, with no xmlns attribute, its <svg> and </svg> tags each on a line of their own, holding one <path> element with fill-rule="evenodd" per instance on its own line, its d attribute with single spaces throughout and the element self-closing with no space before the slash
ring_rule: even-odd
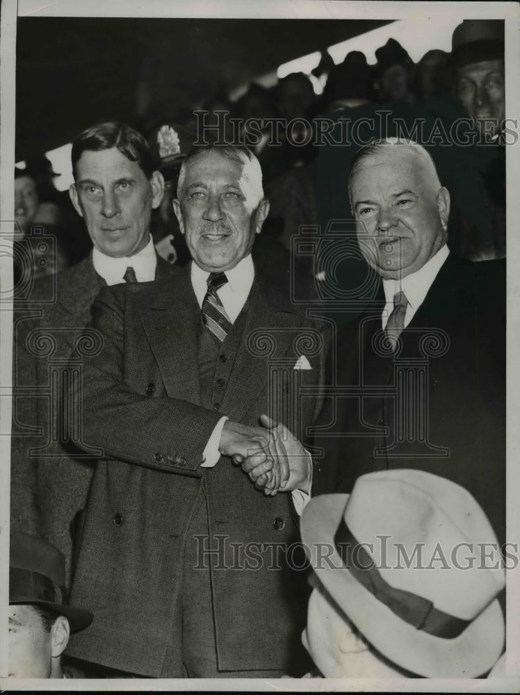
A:
<svg viewBox="0 0 520 695">
<path fill-rule="evenodd" d="M 113 459 L 99 461 L 90 491 L 72 598 L 96 620 L 88 635 L 74 636 L 73 655 L 145 676 L 184 675 L 182 565 L 190 521 L 205 503 L 209 543 L 225 553 L 222 563 L 213 555 L 210 571 L 218 668 L 291 668 L 306 619 L 304 573 L 289 571 L 283 557 L 273 569 L 272 545 L 265 553 L 256 548 L 257 569 L 244 569 L 243 555 L 247 543 L 298 539 L 291 495 L 263 496 L 224 457 L 215 468 L 200 465 L 222 414 L 257 425 L 261 413 L 273 412 L 270 358 L 282 360 L 284 402 L 298 380 L 311 386 L 323 379 L 326 341 L 288 297 L 288 288 L 255 279 L 229 380 L 215 383 L 219 405 L 210 409 L 201 405 L 197 352 L 206 329 L 190 268 L 161 285 L 100 295 L 95 325 L 105 345 L 86 375 L 86 441 Z M 261 340 L 258 329 L 270 338 Z M 317 339 L 314 354 L 299 336 Z M 229 364 L 226 350 L 224 343 L 221 361 Z M 307 350 L 311 370 L 293 369 L 299 350 Z M 317 398 L 302 399 L 300 436 L 319 409 Z M 240 544 L 241 569 L 222 568 L 234 564 L 230 543 Z"/>
</svg>

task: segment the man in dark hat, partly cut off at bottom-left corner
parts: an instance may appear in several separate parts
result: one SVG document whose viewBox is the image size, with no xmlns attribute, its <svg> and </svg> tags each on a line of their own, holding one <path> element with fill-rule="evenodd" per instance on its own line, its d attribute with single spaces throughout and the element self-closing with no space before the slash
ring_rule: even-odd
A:
<svg viewBox="0 0 520 695">
<path fill-rule="evenodd" d="M 10 536 L 10 678 L 70 678 L 62 657 L 70 632 L 88 627 L 92 613 L 65 601 L 65 559 L 40 538 Z"/>
</svg>

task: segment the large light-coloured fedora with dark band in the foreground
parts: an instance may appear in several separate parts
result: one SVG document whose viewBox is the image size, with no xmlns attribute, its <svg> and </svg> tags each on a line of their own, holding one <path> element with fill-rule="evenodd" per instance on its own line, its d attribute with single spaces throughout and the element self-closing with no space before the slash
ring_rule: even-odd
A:
<svg viewBox="0 0 520 695">
<path fill-rule="evenodd" d="M 350 496 L 311 500 L 301 531 L 325 589 L 398 666 L 428 678 L 475 678 L 501 655 L 501 553 L 492 552 L 491 525 L 460 485 L 409 469 L 362 475 Z M 325 543 L 332 555 L 324 559 Z M 470 556 L 475 562 L 461 569 Z"/>
</svg>

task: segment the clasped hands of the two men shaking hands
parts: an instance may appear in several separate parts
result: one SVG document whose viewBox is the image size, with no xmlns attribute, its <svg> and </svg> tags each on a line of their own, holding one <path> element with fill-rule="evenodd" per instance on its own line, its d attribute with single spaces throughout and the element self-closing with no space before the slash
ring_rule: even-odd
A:
<svg viewBox="0 0 520 695">
<path fill-rule="evenodd" d="M 229 456 L 266 495 L 295 489 L 309 492 L 311 457 L 300 441 L 281 423 L 260 416 L 261 427 L 227 420 L 219 451 Z"/>
</svg>

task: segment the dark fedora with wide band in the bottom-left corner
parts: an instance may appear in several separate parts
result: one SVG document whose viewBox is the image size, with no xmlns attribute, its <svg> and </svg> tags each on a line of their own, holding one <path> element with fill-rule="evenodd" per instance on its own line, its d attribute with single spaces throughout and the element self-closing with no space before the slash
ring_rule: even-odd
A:
<svg viewBox="0 0 520 695">
<path fill-rule="evenodd" d="M 22 531 L 11 531 L 9 603 L 47 607 L 64 615 L 72 632 L 90 625 L 92 613 L 66 601 L 65 557 L 58 548 Z"/>
</svg>

